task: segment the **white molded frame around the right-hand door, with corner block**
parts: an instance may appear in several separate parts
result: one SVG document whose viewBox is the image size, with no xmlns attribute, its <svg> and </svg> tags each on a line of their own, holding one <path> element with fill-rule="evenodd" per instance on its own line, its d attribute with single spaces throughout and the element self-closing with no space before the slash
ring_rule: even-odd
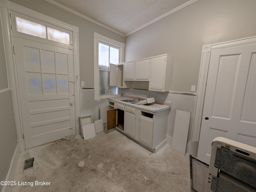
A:
<svg viewBox="0 0 256 192">
<path fill-rule="evenodd" d="M 196 104 L 194 110 L 194 121 L 192 126 L 192 141 L 199 141 L 211 50 L 248 45 L 252 43 L 256 43 L 256 36 L 226 41 L 222 43 L 203 45 L 197 86 Z"/>
</svg>

